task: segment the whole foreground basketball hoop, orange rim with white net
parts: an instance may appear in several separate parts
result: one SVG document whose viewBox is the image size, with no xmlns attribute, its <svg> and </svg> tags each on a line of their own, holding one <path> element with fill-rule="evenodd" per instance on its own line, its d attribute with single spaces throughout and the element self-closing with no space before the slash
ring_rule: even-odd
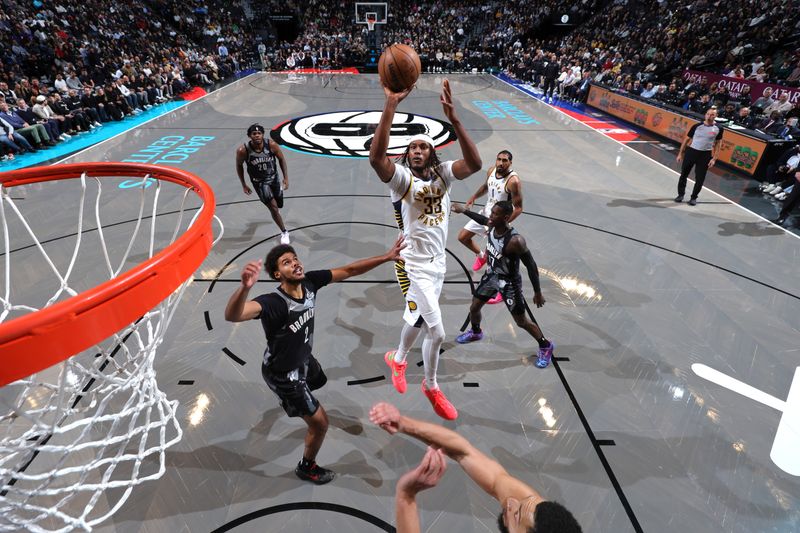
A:
<svg viewBox="0 0 800 533">
<path fill-rule="evenodd" d="M 96 227 L 84 228 L 92 179 Z M 58 205 L 77 212 L 71 237 L 51 238 L 46 232 L 53 224 L 37 211 L 26 219 L 9 194 L 35 184 L 23 189 L 27 207 L 37 194 L 60 199 L 71 180 L 80 181 L 80 204 Z M 138 216 L 104 227 L 101 214 L 110 218 L 119 210 L 118 198 L 101 201 L 109 182 L 126 183 L 124 194 L 139 189 Z M 159 202 L 167 212 L 159 213 Z M 104 211 L 106 205 L 113 207 Z M 174 219 L 174 227 L 156 232 L 159 217 L 170 225 Z M 91 530 L 135 485 L 163 475 L 164 451 L 182 431 L 178 402 L 158 389 L 154 358 L 192 273 L 213 245 L 214 219 L 211 188 L 175 168 L 77 163 L 0 174 L 0 531 Z M 139 231 L 142 226 L 149 231 Z M 67 235 L 72 230 L 58 228 Z M 64 261 L 51 257 L 51 248 L 72 247 L 71 239 L 69 265 L 59 268 Z M 92 246 L 100 250 L 87 250 Z M 91 260 L 82 259 L 86 255 Z M 12 259 L 21 261 L 15 269 Z M 56 278 L 29 283 L 45 287 L 44 296 L 21 294 L 25 283 L 11 282 L 12 274 L 24 280 L 32 261 Z M 79 291 L 94 274 L 82 270 L 85 265 L 105 281 Z"/>
</svg>

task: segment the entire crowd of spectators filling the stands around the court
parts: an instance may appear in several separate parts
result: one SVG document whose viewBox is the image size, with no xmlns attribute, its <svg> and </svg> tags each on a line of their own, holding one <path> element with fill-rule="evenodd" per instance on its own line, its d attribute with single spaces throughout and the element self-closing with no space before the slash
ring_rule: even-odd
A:
<svg viewBox="0 0 800 533">
<path fill-rule="evenodd" d="M 389 23 L 378 46 L 411 45 L 427 71 L 500 68 L 550 98 L 581 100 L 590 83 L 602 83 L 687 111 L 716 105 L 720 115 L 743 126 L 796 136 L 792 119 L 800 110 L 790 102 L 762 98 L 751 105 L 749 94 L 734 98 L 715 84 L 685 84 L 680 74 L 695 68 L 800 85 L 797 4 L 389 0 Z M 352 3 L 343 1 L 0 5 L 0 96 L 8 107 L 0 115 L 6 132 L 0 150 L 12 154 L 123 120 L 190 86 L 211 85 L 251 56 L 275 70 L 361 65 L 369 40 L 366 26 L 354 24 Z M 245 6 L 255 16 L 253 25 Z M 297 18 L 296 40 L 256 38 L 254 28 L 268 25 L 272 13 Z M 541 37 L 562 13 L 580 23 L 569 33 Z"/>
</svg>

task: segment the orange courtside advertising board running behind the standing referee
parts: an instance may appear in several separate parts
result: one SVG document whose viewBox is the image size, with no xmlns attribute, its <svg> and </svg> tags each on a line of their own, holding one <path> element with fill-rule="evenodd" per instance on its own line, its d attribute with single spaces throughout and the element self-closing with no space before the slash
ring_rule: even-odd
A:
<svg viewBox="0 0 800 533">
<path fill-rule="evenodd" d="M 589 89 L 586 103 L 677 143 L 683 142 L 689 128 L 699 122 L 680 113 L 646 104 L 595 85 Z M 719 161 L 753 175 L 766 146 L 765 141 L 725 128 L 722 133 Z"/>
</svg>

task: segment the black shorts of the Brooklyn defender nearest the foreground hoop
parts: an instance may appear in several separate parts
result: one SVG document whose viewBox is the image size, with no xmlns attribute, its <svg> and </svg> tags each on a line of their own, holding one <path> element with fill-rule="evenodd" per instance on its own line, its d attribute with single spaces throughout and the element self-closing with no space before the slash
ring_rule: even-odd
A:
<svg viewBox="0 0 800 533">
<path fill-rule="evenodd" d="M 262 363 L 261 375 L 280 399 L 283 410 L 291 417 L 313 416 L 319 408 L 319 401 L 311 391 L 322 388 L 328 382 L 328 377 L 314 357 L 309 358 L 303 368 L 291 372 L 271 372 Z"/>
</svg>

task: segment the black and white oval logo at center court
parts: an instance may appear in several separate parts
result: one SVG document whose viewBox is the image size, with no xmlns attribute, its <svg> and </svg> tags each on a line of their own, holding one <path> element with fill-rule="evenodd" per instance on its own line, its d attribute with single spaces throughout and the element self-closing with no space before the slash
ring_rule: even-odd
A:
<svg viewBox="0 0 800 533">
<path fill-rule="evenodd" d="M 372 136 L 381 118 L 380 111 L 338 111 L 288 120 L 270 132 L 276 143 L 313 155 L 332 157 L 369 157 Z M 413 115 L 395 113 L 392 122 L 390 156 L 402 154 L 411 137 L 425 134 L 433 139 L 436 148 L 456 140 L 453 126 L 447 122 Z"/>
</svg>

